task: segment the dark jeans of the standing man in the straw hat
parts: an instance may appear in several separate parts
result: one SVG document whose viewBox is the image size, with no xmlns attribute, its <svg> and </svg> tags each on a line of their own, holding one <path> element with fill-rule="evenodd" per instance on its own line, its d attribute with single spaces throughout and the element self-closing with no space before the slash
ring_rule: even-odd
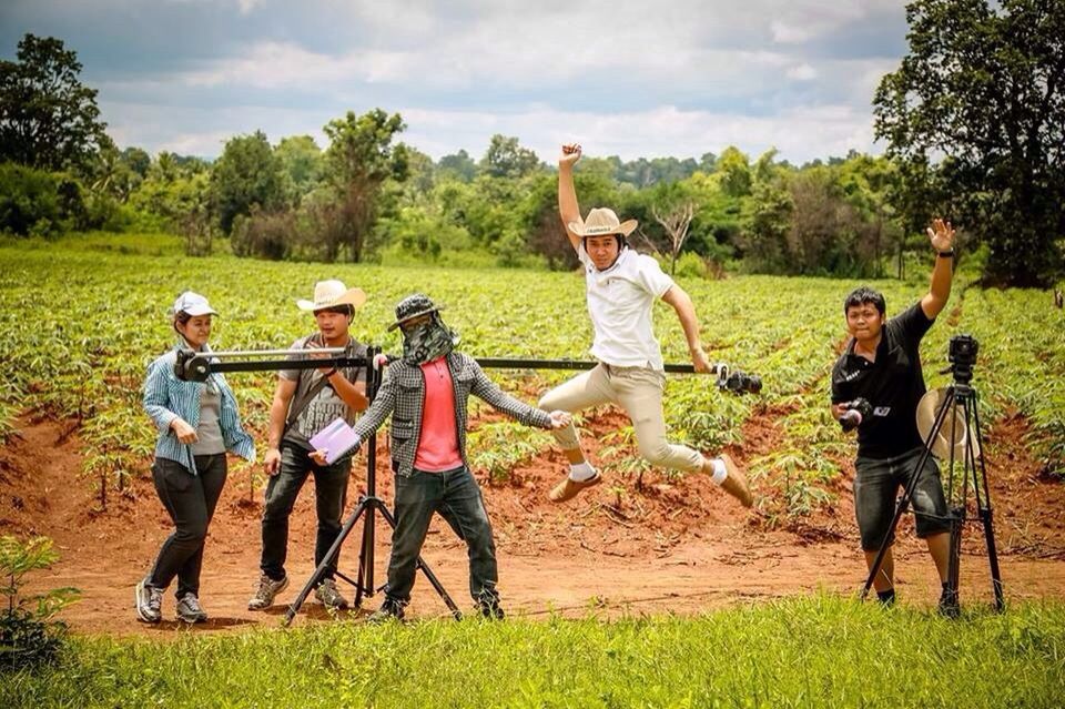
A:
<svg viewBox="0 0 1065 709">
<path fill-rule="evenodd" d="M 281 467 L 266 485 L 266 506 L 263 509 L 263 557 L 260 567 L 270 578 L 285 577 L 288 555 L 288 516 L 296 504 L 307 475 L 314 473 L 314 502 L 318 516 L 318 533 L 314 543 L 314 565 L 325 558 L 341 534 L 341 515 L 347 499 L 347 478 L 352 459 L 321 466 L 311 459 L 311 452 L 300 446 L 282 444 Z M 324 578 L 336 576 L 336 559 L 329 564 Z"/>
</svg>

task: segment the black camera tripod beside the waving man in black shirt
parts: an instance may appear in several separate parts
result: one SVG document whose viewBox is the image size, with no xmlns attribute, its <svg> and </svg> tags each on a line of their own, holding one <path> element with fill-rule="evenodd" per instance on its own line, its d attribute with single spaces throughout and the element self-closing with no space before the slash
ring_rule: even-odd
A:
<svg viewBox="0 0 1065 709">
<path fill-rule="evenodd" d="M 869 578 L 865 579 L 865 587 L 862 589 L 861 598 L 862 600 L 865 599 L 865 597 L 869 595 L 869 589 L 873 586 L 876 575 L 880 574 L 880 568 L 884 561 L 884 556 L 886 556 L 888 549 L 891 548 L 891 545 L 894 541 L 895 527 L 899 525 L 899 519 L 902 517 L 903 513 L 906 512 L 910 500 L 913 498 L 913 493 L 916 488 L 920 472 L 924 469 L 924 465 L 927 462 L 929 456 L 932 454 L 932 446 L 943 429 L 947 415 L 953 411 L 955 415 L 951 416 L 951 435 L 949 438 L 950 455 L 946 456 L 949 483 L 945 493 L 947 505 L 951 505 L 955 497 L 954 464 L 956 462 L 955 450 L 958 447 L 955 445 L 955 442 L 958 440 L 958 434 L 962 434 L 963 438 L 961 443 L 962 472 L 958 486 L 960 499 L 956 500 L 956 504 L 953 507 L 950 507 L 947 515 L 951 525 L 951 544 L 947 563 L 946 594 L 947 598 L 954 601 L 956 608 L 956 601 L 958 598 L 958 570 L 961 567 L 962 554 L 962 530 L 964 524 L 968 521 L 968 493 L 970 489 L 972 489 L 973 502 L 975 504 L 977 515 L 976 521 L 978 521 L 984 528 L 984 539 L 987 545 L 987 561 L 991 567 L 991 586 L 995 597 L 995 610 L 1002 611 L 1005 607 L 1005 601 L 1003 599 L 1002 576 L 998 573 L 998 555 L 995 551 L 995 533 L 991 507 L 991 492 L 987 487 L 987 468 L 984 464 L 984 439 L 981 435 L 980 414 L 976 411 L 976 389 L 974 389 L 971 384 L 973 374 L 972 367 L 962 366 L 957 363 L 954 363 L 947 371 L 953 373 L 954 381 L 946 388 L 946 395 L 943 397 L 943 402 L 935 414 L 932 428 L 925 438 L 924 449 L 921 452 L 921 457 L 917 459 L 917 464 L 914 467 L 913 474 L 910 476 L 905 489 L 903 490 L 902 496 L 899 498 L 899 503 L 895 507 L 895 515 L 891 520 L 891 525 L 888 528 L 888 534 L 880 546 L 876 558 L 870 568 Z M 958 412 L 962 414 L 961 418 L 957 416 Z M 958 431 L 958 426 L 961 426 L 961 431 Z"/>
</svg>

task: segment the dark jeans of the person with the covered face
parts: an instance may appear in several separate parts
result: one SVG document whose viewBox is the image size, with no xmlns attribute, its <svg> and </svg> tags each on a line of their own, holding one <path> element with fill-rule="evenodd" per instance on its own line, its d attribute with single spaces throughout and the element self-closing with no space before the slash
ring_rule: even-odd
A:
<svg viewBox="0 0 1065 709">
<path fill-rule="evenodd" d="M 466 543 L 469 595 L 481 605 L 498 604 L 499 574 L 491 524 L 477 480 L 466 467 L 444 473 L 414 470 L 409 477 L 396 476 L 396 528 L 388 558 L 388 598 L 400 604 L 410 600 L 418 555 L 433 513 L 439 513 Z"/>
</svg>

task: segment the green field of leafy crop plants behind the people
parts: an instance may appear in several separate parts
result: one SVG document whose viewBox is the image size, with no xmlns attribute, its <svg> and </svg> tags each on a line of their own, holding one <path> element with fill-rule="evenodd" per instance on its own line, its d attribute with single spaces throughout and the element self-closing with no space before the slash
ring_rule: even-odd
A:
<svg viewBox="0 0 1065 709">
<path fill-rule="evenodd" d="M 417 230 L 410 226 L 408 233 Z M 222 313 L 213 333 L 219 348 L 286 346 L 314 327 L 293 301 L 306 297 L 313 283 L 324 277 L 321 265 L 248 263 L 224 255 L 182 259 L 180 242 L 150 234 L 72 236 L 52 250 L 37 241 L 22 242 L 0 242 L 0 328 L 7 335 L 0 340 L 0 359 L 9 371 L 0 412 L 9 412 L 8 422 L 24 409 L 83 422 L 87 484 L 93 487 L 102 482 L 106 490 L 121 488 L 130 476 L 148 470 L 155 432 L 141 411 L 140 386 L 146 364 L 172 341 L 163 313 L 174 295 L 196 288 L 211 298 Z M 422 291 L 447 305 L 448 324 L 462 335 L 463 350 L 474 356 L 586 356 L 591 327 L 582 282 L 574 274 L 424 264 L 392 267 L 402 254 L 384 253 L 388 269 L 336 265 L 329 271 L 369 294 L 354 323 L 361 341 L 395 351 L 398 338 L 385 330 L 393 320 L 392 307 L 408 293 Z M 477 254 L 481 265 L 497 257 L 485 250 L 442 250 L 438 262 L 464 253 Z M 889 314 L 926 292 L 927 269 L 925 259 L 920 277 L 912 282 L 873 283 L 888 297 Z M 710 359 L 760 375 L 764 388 L 757 397 L 738 397 L 719 392 L 708 376 L 670 376 L 663 401 L 670 438 L 713 453 L 722 446 L 744 446 L 748 426 L 778 426 L 782 437 L 774 455 L 780 457 L 752 465 L 759 490 L 770 494 L 763 509 L 781 519 L 815 509 L 828 499 L 822 493 L 832 489 L 840 463 L 853 455 L 853 443 L 826 415 L 828 376 L 845 336 L 841 303 L 853 284 L 771 276 L 678 277 L 697 305 Z M 977 385 L 987 382 L 982 401 L 993 404 L 986 421 L 1013 409 L 1032 417 L 1033 449 L 1048 462 L 1049 470 L 1062 469 L 1055 462 L 1061 460 L 1065 437 L 1055 422 L 1065 419 L 1065 401 L 1057 387 L 1065 381 L 1058 362 L 1065 341 L 1058 336 L 1059 327 L 1033 315 L 1061 311 L 1049 308 L 1045 293 L 996 294 L 966 288 L 965 283 L 963 272 L 950 307 L 961 308 L 961 327 L 974 332 L 983 344 L 986 358 L 980 363 Z M 61 298 L 64 307 L 42 313 L 42 298 Z M 27 312 L 37 315 L 28 318 Z M 655 320 L 666 361 L 688 362 L 672 311 L 658 305 Z M 954 332 L 941 323 L 924 338 L 930 386 L 943 382 L 934 372 L 945 364 L 946 341 Z M 507 374 L 501 382 L 527 376 Z M 552 373 L 526 379 L 521 391 L 542 392 L 567 376 Z M 241 374 L 231 381 L 252 432 L 262 439 L 273 377 Z M 525 433 L 515 434 L 514 440 L 520 435 Z M 508 439 L 503 449 L 488 449 L 513 459 L 525 455 L 509 445 Z M 636 453 L 626 445 L 628 453 L 619 453 L 622 458 Z"/>
</svg>

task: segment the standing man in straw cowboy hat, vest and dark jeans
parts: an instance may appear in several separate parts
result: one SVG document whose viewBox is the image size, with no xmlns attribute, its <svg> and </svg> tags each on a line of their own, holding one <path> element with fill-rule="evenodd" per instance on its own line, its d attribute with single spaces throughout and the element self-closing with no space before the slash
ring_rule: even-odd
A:
<svg viewBox="0 0 1065 709">
<path fill-rule="evenodd" d="M 365 357 L 366 346 L 356 342 L 348 327 L 355 310 L 366 302 L 359 288 L 348 288 L 339 281 L 320 281 L 313 301 L 297 301 L 302 311 L 314 313 L 318 331 L 293 343 L 293 350 L 344 347 L 344 356 Z M 355 422 L 365 411 L 366 371 L 363 367 L 337 369 L 282 369 L 277 376 L 274 401 L 270 407 L 268 448 L 264 460 L 270 482 L 263 507 L 262 574 L 258 588 L 248 601 L 250 610 L 261 610 L 288 585 L 285 558 L 288 548 L 288 517 L 300 489 L 314 475 L 315 508 L 318 518 L 314 545 L 314 563 L 318 565 L 341 531 L 351 456 L 331 465 L 311 458 L 311 437 L 337 417 Z M 347 602 L 336 588 L 335 563 L 315 590 L 326 607 L 346 608 Z"/>
</svg>

